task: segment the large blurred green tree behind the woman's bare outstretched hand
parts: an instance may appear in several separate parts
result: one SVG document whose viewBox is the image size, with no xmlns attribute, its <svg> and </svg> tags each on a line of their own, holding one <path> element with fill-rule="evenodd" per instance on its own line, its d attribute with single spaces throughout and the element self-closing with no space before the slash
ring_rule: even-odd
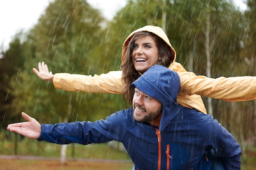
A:
<svg viewBox="0 0 256 170">
<path fill-rule="evenodd" d="M 55 89 L 52 83 L 40 80 L 31 70 L 42 61 L 53 73 L 88 75 L 114 68 L 100 52 L 105 41 L 103 21 L 99 10 L 85 0 L 49 3 L 27 37 L 31 55 L 27 55 L 21 81 L 12 81 L 12 87 L 16 87 L 15 112 L 25 111 L 41 123 L 54 124 L 65 118 L 68 121 L 105 118 L 115 112 L 118 105 L 122 106 L 122 99 L 115 101 L 118 95 Z M 111 99 L 114 101 L 110 102 Z M 105 109 L 99 110 L 99 105 Z"/>
</svg>

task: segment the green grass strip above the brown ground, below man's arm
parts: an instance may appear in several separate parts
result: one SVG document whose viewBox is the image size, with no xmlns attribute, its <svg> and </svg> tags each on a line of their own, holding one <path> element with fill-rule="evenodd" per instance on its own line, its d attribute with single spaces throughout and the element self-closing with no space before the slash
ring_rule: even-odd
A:
<svg viewBox="0 0 256 170">
<path fill-rule="evenodd" d="M 2 141 L 1 155 L 15 155 L 15 144 L 11 141 Z M 120 145 L 120 143 L 119 143 Z M 31 139 L 20 139 L 17 147 L 17 155 L 31 155 L 41 157 L 60 157 L 61 145 L 51 144 L 45 141 L 38 142 Z M 66 150 L 67 158 L 72 159 L 110 159 L 130 160 L 126 151 L 117 150 L 105 144 L 69 144 Z"/>
</svg>

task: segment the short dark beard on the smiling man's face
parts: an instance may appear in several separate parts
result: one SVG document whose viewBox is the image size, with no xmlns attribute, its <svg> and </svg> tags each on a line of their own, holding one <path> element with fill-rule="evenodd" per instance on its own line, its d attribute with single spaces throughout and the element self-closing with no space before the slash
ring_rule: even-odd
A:
<svg viewBox="0 0 256 170">
<path fill-rule="evenodd" d="M 137 105 L 136 105 L 137 106 Z M 138 107 L 137 108 L 141 108 L 141 107 Z M 158 108 L 158 110 L 156 112 L 149 112 L 147 113 L 146 115 L 144 115 L 144 117 L 141 117 L 140 119 L 137 119 L 136 118 L 136 113 L 135 113 L 135 106 L 133 106 L 133 118 L 138 121 L 138 122 L 145 122 L 145 121 L 153 121 L 155 120 L 157 117 L 159 117 L 159 115 L 161 115 L 162 111 L 163 111 L 163 105 L 161 105 L 161 107 Z M 146 110 L 145 108 L 141 108 L 141 110 Z"/>
</svg>

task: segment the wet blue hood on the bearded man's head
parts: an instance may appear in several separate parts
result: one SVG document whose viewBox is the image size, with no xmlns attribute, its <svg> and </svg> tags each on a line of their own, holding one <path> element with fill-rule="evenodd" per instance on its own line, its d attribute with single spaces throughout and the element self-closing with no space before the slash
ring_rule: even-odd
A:
<svg viewBox="0 0 256 170">
<path fill-rule="evenodd" d="M 166 117 L 172 119 L 177 115 L 174 108 L 178 105 L 177 95 L 180 91 L 180 77 L 175 71 L 164 66 L 154 65 L 132 85 L 163 104 L 162 119 L 167 120 Z M 164 125 L 162 124 L 162 126 Z"/>
</svg>

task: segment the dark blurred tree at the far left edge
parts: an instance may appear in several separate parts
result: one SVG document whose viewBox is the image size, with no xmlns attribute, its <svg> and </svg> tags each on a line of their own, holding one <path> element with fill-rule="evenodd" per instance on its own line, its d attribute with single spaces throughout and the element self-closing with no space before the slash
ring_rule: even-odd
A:
<svg viewBox="0 0 256 170">
<path fill-rule="evenodd" d="M 23 64 L 27 55 L 27 46 L 22 43 L 22 32 L 17 33 L 9 43 L 9 49 L 2 54 L 0 59 L 0 128 L 6 129 L 6 126 L 17 121 L 13 114 L 12 102 L 14 94 L 10 86 L 11 77 L 14 81 L 20 81 L 20 74 L 23 71 Z"/>
</svg>

